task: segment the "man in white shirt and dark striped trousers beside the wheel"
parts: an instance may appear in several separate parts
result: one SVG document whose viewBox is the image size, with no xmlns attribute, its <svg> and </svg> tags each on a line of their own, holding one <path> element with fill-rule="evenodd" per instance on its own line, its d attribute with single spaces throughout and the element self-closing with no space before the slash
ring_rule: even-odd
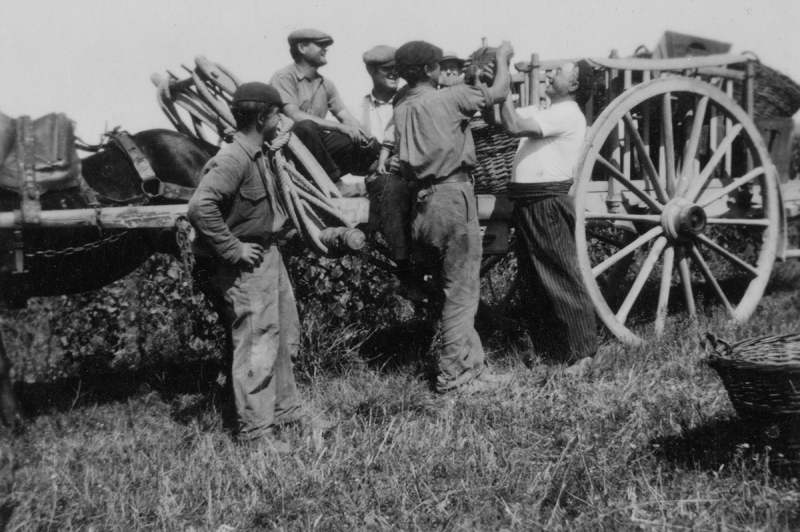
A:
<svg viewBox="0 0 800 532">
<path fill-rule="evenodd" d="M 502 122 L 520 137 L 508 197 L 520 234 L 520 267 L 532 289 L 532 323 L 537 351 L 572 365 L 580 373 L 597 351 L 594 307 L 583 283 L 575 248 L 575 205 L 569 194 L 586 119 L 581 112 L 591 95 L 592 68 L 586 61 L 565 62 L 548 72 L 550 106 L 503 106 Z"/>
</svg>

